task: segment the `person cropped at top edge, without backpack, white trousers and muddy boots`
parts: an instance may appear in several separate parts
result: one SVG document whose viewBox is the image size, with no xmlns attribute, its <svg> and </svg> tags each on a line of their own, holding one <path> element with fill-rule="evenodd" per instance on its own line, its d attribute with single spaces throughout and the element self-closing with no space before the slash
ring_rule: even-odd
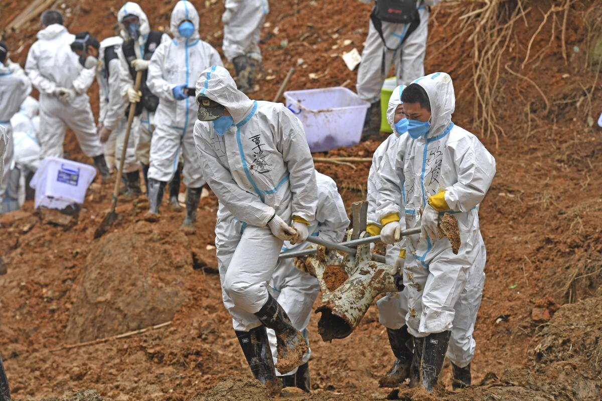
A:
<svg viewBox="0 0 602 401">
<path fill-rule="evenodd" d="M 225 7 L 222 49 L 234 64 L 238 89 L 252 93 L 261 66 L 261 26 L 270 6 L 267 0 L 226 0 Z"/>
</svg>

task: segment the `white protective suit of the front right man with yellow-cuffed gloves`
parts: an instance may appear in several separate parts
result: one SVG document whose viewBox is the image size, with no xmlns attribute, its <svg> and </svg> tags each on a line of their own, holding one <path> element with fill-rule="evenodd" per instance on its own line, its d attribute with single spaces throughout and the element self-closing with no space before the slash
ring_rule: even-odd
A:
<svg viewBox="0 0 602 401">
<path fill-rule="evenodd" d="M 415 82 L 430 99 L 430 130 L 426 136 L 409 139 L 405 157 L 397 155 L 383 165 L 388 173 L 380 176 L 377 214 L 380 219 L 390 219 L 399 213 L 395 186 L 400 171 L 404 174 L 408 228 L 420 227 L 421 211 L 429 197 L 445 191 L 447 212 L 458 219 L 462 246 L 454 255 L 445 237 L 434 243 L 420 234 L 406 237 L 406 322 L 414 337 L 453 328 L 448 357 L 464 367 L 474 355 L 472 331 L 485 278 L 478 205 L 494 177 L 495 160 L 476 136 L 452 123 L 455 95 L 449 75 L 434 73 Z"/>
</svg>

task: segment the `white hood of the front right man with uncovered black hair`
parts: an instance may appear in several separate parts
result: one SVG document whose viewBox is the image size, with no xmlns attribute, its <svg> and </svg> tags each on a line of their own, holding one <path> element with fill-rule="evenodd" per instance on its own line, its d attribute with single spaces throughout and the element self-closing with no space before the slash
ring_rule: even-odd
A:
<svg viewBox="0 0 602 401">
<path fill-rule="evenodd" d="M 424 88 L 430 101 L 430 129 L 427 138 L 441 135 L 452 122 L 452 114 L 456 108 L 456 95 L 453 90 L 452 77 L 444 72 L 436 72 L 418 78 L 412 84 Z"/>
</svg>

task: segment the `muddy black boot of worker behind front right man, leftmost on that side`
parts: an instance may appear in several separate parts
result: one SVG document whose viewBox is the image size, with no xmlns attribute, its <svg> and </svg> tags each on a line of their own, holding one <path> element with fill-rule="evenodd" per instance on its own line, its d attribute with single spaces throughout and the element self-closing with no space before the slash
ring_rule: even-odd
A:
<svg viewBox="0 0 602 401">
<path fill-rule="evenodd" d="M 396 357 L 395 363 L 389 372 L 380 378 L 380 387 L 396 388 L 402 384 L 405 379 L 410 377 L 410 366 L 412 364 L 413 352 L 408 343 L 412 344 L 412 336 L 408 333 L 408 326 L 404 325 L 400 329 L 386 329 L 389 337 L 389 344 Z M 413 345 L 413 344 L 412 344 Z M 411 345 L 411 346 L 412 346 Z"/>
</svg>

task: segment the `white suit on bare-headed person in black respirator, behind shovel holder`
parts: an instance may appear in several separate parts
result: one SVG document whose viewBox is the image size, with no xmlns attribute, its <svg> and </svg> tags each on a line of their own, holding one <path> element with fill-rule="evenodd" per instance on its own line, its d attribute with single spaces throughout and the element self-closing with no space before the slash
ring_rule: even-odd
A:
<svg viewBox="0 0 602 401">
<path fill-rule="evenodd" d="M 101 65 L 96 70 L 100 100 L 98 123 L 102 123 L 105 128 L 111 130 L 108 141 L 104 143 L 105 161 L 109 168 L 119 167 L 125 131 L 128 127 L 128 118 L 125 116 L 125 112 L 129 110 L 129 103 L 121 96 L 119 58 L 113 58 L 107 63 L 105 53 L 108 47 L 113 47 L 115 55 L 119 55 L 122 43 L 123 38 L 119 36 L 108 37 L 101 41 L 98 57 Z M 139 168 L 135 155 L 135 139 L 135 135 L 131 133 L 125 149 L 123 173 L 131 173 Z"/>
</svg>

